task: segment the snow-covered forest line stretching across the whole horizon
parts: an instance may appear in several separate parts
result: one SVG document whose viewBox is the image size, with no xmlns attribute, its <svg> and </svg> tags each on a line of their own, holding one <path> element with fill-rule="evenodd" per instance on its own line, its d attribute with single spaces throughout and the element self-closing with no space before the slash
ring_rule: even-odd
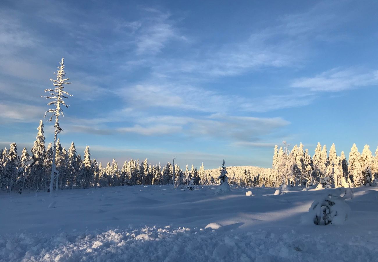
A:
<svg viewBox="0 0 378 262">
<path fill-rule="evenodd" d="M 43 122 L 39 123 L 38 134 L 34 141 L 31 154 L 24 147 L 21 155 L 17 153 L 16 143 L 11 143 L 9 150 L 0 150 L 0 190 L 3 191 L 49 191 L 51 179 L 51 165 L 53 159 L 53 145 L 45 148 Z M 186 165 L 182 170 L 179 165 L 175 168 L 169 162 L 161 167 L 160 164 L 151 165 L 147 159 L 139 163 L 138 160 L 125 161 L 121 168 L 113 159 L 105 166 L 91 159 L 87 146 L 84 158 L 77 154 L 74 142 L 68 151 L 57 140 L 55 154 L 56 170 L 59 171 L 58 181 L 54 181 L 56 189 L 81 189 L 90 187 L 132 186 L 132 185 L 167 185 L 177 187 L 218 183 L 219 168 L 205 170 L 202 163 L 197 169 L 192 165 L 189 170 Z M 175 170 L 175 181 L 173 181 Z M 335 145 L 332 144 L 329 154 L 327 147 L 318 143 L 315 154 L 311 158 L 308 150 L 303 149 L 302 143 L 295 145 L 289 151 L 286 143 L 278 149 L 274 147 L 273 168 L 252 166 L 226 167 L 229 184 L 241 187 L 278 187 L 287 185 L 334 185 L 335 187 L 376 186 L 378 182 L 378 148 L 373 157 L 369 146 L 365 145 L 362 154 L 355 144 L 349 153 L 349 161 L 344 152 L 336 155 Z"/>
</svg>

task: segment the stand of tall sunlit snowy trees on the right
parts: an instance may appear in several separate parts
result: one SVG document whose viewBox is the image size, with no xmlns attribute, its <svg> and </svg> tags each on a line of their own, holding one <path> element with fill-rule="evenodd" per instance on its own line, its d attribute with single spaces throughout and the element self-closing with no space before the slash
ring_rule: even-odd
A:
<svg viewBox="0 0 378 262">
<path fill-rule="evenodd" d="M 274 147 L 273 170 L 269 180 L 270 186 L 277 186 L 281 182 L 291 186 L 377 186 L 378 148 L 373 157 L 369 145 L 365 145 L 360 154 L 356 144 L 353 144 L 347 161 L 344 151 L 340 156 L 336 154 L 335 144 L 332 144 L 328 154 L 326 145 L 322 147 L 318 143 L 311 158 L 302 143 L 299 147 L 295 145 L 289 152 L 284 141 L 283 147 Z"/>
</svg>

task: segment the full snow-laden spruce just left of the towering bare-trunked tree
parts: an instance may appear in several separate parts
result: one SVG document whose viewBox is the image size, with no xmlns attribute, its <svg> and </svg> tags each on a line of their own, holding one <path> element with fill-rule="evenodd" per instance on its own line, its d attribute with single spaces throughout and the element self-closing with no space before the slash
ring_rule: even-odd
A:
<svg viewBox="0 0 378 262">
<path fill-rule="evenodd" d="M 34 145 L 31 148 L 31 158 L 32 162 L 30 164 L 30 175 L 28 179 L 28 189 L 30 187 L 33 190 L 37 190 L 42 179 L 45 175 L 45 157 L 46 157 L 46 148 L 45 148 L 45 135 L 43 132 L 43 121 L 40 120 L 39 126 L 37 128 L 38 133 L 36 137 L 36 141 L 34 141 Z"/>
</svg>

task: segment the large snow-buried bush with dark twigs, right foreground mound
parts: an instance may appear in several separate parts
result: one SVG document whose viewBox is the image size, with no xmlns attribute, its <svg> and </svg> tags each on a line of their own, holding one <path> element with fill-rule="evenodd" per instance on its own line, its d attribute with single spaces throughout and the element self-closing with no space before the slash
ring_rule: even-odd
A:
<svg viewBox="0 0 378 262">
<path fill-rule="evenodd" d="M 348 198 L 353 198 L 350 188 L 335 190 L 334 193 L 315 200 L 308 210 L 309 213 L 302 217 L 302 223 L 343 225 L 350 212 L 349 205 L 345 203 Z"/>
</svg>

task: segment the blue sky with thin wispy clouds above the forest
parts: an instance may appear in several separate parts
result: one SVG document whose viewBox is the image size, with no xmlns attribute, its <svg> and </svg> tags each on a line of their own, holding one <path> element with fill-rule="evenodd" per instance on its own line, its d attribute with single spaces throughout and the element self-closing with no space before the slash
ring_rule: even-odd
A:
<svg viewBox="0 0 378 262">
<path fill-rule="evenodd" d="M 2 1 L 0 146 L 33 145 L 62 56 L 62 145 L 270 167 L 275 144 L 374 152 L 376 1 Z M 46 142 L 53 124 L 45 123 Z"/>
</svg>

